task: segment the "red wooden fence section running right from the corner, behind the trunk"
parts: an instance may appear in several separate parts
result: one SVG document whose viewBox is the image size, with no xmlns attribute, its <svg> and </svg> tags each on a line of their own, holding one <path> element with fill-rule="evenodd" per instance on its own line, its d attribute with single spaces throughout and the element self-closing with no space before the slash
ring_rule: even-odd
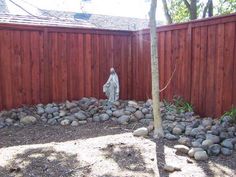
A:
<svg viewBox="0 0 236 177">
<path fill-rule="evenodd" d="M 161 98 L 180 95 L 201 115 L 220 116 L 236 106 L 236 14 L 157 28 Z M 134 98 L 150 97 L 148 30 L 132 36 Z M 141 64 L 140 64 L 141 63 Z M 148 81 L 149 82 L 149 81 Z M 149 84 L 150 85 L 150 84 Z M 143 94 L 142 94 L 143 93 Z"/>
</svg>

